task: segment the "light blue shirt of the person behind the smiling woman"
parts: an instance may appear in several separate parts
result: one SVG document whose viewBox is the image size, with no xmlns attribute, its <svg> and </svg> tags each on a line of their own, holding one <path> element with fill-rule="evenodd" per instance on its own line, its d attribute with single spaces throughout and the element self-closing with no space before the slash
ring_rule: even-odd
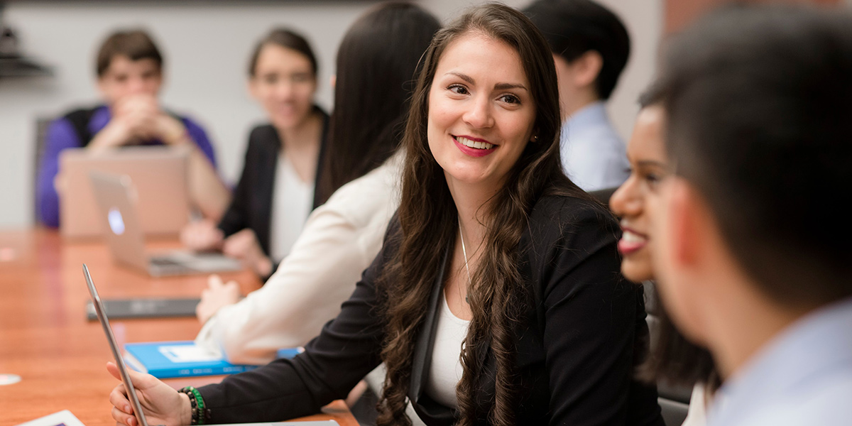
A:
<svg viewBox="0 0 852 426">
<path fill-rule="evenodd" d="M 630 176 L 625 142 L 609 123 L 602 101 L 565 120 L 560 139 L 562 168 L 584 190 L 618 187 Z"/>
</svg>

